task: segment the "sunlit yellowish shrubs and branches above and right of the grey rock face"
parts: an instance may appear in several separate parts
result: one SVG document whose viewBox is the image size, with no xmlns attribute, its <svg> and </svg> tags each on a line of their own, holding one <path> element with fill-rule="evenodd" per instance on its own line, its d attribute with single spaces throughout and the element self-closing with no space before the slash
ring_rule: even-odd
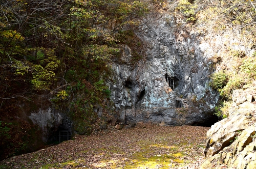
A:
<svg viewBox="0 0 256 169">
<path fill-rule="evenodd" d="M 222 39 L 221 44 L 211 46 L 216 53 L 209 59 L 210 67 L 217 70 L 209 85 L 222 97 L 216 107 L 216 115 L 222 118 L 228 116 L 232 91 L 243 89 L 256 78 L 255 6 L 251 0 L 180 0 L 170 5 L 175 16 L 190 23 L 184 26 L 187 31 L 196 31 L 206 41 Z"/>
</svg>

